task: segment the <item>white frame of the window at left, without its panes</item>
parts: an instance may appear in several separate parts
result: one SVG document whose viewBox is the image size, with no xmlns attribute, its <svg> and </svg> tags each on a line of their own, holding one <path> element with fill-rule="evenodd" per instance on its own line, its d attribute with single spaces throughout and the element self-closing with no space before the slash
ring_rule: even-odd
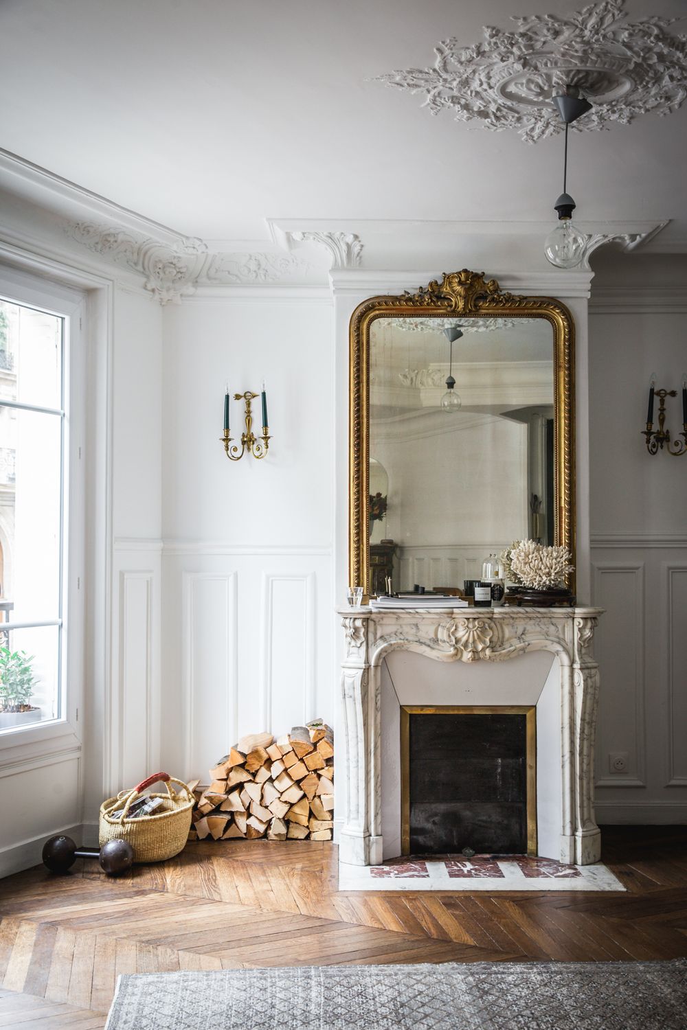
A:
<svg viewBox="0 0 687 1030">
<path fill-rule="evenodd" d="M 80 742 L 82 736 L 87 304 L 80 290 L 4 265 L 0 265 L 0 297 L 65 318 L 60 715 L 57 719 L 0 730 L 0 752 L 3 752 L 16 745 L 41 744 L 65 735 Z"/>
</svg>

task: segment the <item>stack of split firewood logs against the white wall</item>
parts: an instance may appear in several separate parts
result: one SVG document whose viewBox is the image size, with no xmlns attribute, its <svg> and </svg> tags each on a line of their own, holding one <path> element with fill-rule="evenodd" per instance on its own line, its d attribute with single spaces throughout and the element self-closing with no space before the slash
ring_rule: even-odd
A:
<svg viewBox="0 0 687 1030">
<path fill-rule="evenodd" d="M 319 720 L 242 737 L 210 769 L 196 795 L 190 840 L 267 837 L 331 840 L 334 828 L 334 733 Z"/>
</svg>

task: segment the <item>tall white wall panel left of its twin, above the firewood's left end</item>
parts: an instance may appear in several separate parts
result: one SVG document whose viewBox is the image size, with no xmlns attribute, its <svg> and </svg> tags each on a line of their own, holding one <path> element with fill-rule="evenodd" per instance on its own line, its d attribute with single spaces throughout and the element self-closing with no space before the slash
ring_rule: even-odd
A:
<svg viewBox="0 0 687 1030">
<path fill-rule="evenodd" d="M 213 584 L 219 589 L 213 591 Z M 181 775 L 190 776 L 204 774 L 226 753 L 207 753 L 204 741 L 216 737 L 215 747 L 227 749 L 238 735 L 238 573 L 184 572 L 181 598 L 185 760 Z"/>
</svg>

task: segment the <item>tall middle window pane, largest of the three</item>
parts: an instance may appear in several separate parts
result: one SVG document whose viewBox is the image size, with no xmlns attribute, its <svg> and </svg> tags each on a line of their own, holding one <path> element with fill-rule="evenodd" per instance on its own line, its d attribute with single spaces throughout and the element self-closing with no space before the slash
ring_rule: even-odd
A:
<svg viewBox="0 0 687 1030">
<path fill-rule="evenodd" d="M 0 611 L 60 618 L 62 418 L 0 403 Z"/>
</svg>

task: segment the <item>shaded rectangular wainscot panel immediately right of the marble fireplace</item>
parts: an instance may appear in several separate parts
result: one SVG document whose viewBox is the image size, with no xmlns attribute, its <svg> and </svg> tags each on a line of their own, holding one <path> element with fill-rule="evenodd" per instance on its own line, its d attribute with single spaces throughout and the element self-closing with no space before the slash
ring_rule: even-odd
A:
<svg viewBox="0 0 687 1030">
<path fill-rule="evenodd" d="M 623 592 L 625 599 L 623 605 L 628 612 L 628 618 L 623 627 L 620 627 L 620 640 L 609 640 L 609 631 L 612 628 L 612 618 L 618 610 L 617 605 L 608 605 L 605 600 L 605 589 L 608 590 L 609 580 L 614 577 L 622 577 L 625 581 Z M 599 719 L 598 737 L 596 742 L 596 769 L 597 788 L 626 788 L 646 787 L 646 714 L 645 714 L 645 590 L 644 590 L 644 562 L 615 562 L 604 561 L 592 562 L 592 598 L 593 604 L 599 608 L 607 609 L 602 617 L 598 632 L 597 660 L 602 674 L 602 703 L 604 697 L 605 683 L 613 684 L 613 675 L 617 662 L 613 665 L 609 660 L 611 655 L 623 656 L 629 648 L 633 651 L 631 661 L 633 684 L 616 684 L 617 696 L 627 696 L 631 690 L 631 699 L 628 703 L 633 712 L 633 754 L 634 762 L 631 758 L 627 774 L 611 775 L 608 763 L 608 753 L 610 751 L 631 751 L 630 747 L 619 745 L 611 747 L 605 739 L 605 725 Z M 610 610 L 609 610 L 610 609 Z M 623 628 L 628 628 L 629 632 L 623 632 Z M 632 765 L 634 766 L 632 768 Z M 600 774 L 600 775 L 599 775 Z"/>
</svg>

